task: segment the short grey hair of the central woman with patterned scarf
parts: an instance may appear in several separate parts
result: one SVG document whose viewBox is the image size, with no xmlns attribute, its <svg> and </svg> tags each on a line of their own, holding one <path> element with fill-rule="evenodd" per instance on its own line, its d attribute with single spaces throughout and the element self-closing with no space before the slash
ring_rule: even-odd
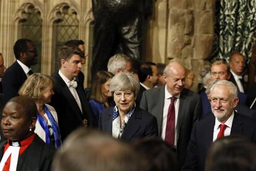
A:
<svg viewBox="0 0 256 171">
<path fill-rule="evenodd" d="M 109 83 L 109 92 L 132 90 L 135 95 L 139 93 L 140 83 L 131 73 L 119 73 L 114 76 Z"/>
</svg>

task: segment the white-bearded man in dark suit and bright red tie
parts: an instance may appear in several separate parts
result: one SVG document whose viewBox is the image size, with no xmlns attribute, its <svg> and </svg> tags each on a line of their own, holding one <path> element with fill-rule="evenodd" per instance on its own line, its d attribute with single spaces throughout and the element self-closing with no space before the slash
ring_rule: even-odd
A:
<svg viewBox="0 0 256 171">
<path fill-rule="evenodd" d="M 204 170 L 205 158 L 211 143 L 217 138 L 240 134 L 256 142 L 256 121 L 237 113 L 237 87 L 230 81 L 221 80 L 210 90 L 211 111 L 195 123 L 182 170 Z"/>
</svg>

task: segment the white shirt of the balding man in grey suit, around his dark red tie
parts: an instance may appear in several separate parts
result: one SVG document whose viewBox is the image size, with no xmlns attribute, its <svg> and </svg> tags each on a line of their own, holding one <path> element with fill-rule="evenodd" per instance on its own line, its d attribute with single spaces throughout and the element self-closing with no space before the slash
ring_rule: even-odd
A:
<svg viewBox="0 0 256 171">
<path fill-rule="evenodd" d="M 164 85 L 164 108 L 163 108 L 163 124 L 162 124 L 162 134 L 161 137 L 165 138 L 165 132 L 166 132 L 166 122 L 167 122 L 167 117 L 168 117 L 168 108 L 169 105 L 171 104 L 171 97 L 173 97 L 173 95 L 171 95 L 167 88 L 166 85 Z M 179 95 L 176 95 L 177 99 L 174 101 L 174 108 L 175 108 L 175 137 L 174 137 L 174 148 L 176 148 L 177 146 L 177 116 L 179 113 Z"/>
</svg>

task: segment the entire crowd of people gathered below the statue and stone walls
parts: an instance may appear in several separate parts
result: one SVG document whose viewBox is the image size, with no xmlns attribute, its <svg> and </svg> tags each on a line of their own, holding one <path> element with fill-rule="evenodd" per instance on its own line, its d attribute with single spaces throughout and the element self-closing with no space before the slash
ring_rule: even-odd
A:
<svg viewBox="0 0 256 171">
<path fill-rule="evenodd" d="M 83 44 L 66 42 L 51 76 L 31 70 L 29 39 L 15 42 L 9 68 L 0 54 L 0 170 L 256 169 L 255 94 L 241 53 L 211 63 L 200 92 L 182 63 L 124 54 L 85 88 Z"/>
</svg>

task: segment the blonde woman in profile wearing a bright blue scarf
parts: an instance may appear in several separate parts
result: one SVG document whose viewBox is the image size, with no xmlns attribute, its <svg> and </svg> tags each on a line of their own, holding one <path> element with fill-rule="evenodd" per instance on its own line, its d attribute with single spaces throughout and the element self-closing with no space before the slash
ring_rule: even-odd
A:
<svg viewBox="0 0 256 171">
<path fill-rule="evenodd" d="M 61 133 L 57 113 L 53 106 L 46 104 L 51 102 L 53 94 L 53 79 L 40 73 L 32 74 L 19 90 L 19 95 L 35 100 L 38 109 L 35 133 L 47 144 L 59 148 Z"/>
</svg>

